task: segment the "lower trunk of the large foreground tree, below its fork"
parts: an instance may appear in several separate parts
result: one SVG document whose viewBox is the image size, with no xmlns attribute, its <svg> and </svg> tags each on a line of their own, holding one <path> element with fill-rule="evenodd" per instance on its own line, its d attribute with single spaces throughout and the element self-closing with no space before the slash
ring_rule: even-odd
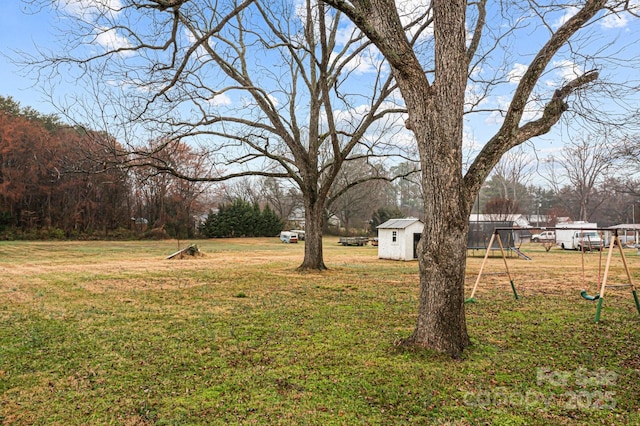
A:
<svg viewBox="0 0 640 426">
<path fill-rule="evenodd" d="M 422 164 L 425 227 L 418 247 L 418 318 L 407 343 L 458 358 L 469 345 L 464 278 L 473 201 L 462 177 L 462 120 L 430 110 L 414 113 L 412 122 Z"/>
</svg>

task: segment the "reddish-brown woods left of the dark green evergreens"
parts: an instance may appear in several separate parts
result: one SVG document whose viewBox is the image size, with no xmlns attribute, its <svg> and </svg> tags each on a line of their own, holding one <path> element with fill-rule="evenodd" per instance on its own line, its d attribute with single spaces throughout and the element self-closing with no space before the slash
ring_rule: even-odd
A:
<svg viewBox="0 0 640 426">
<path fill-rule="evenodd" d="M 197 167 L 189 147 L 176 148 L 172 161 Z M 194 236 L 205 185 L 118 167 L 118 151 L 106 134 L 0 96 L 0 237 Z"/>
</svg>

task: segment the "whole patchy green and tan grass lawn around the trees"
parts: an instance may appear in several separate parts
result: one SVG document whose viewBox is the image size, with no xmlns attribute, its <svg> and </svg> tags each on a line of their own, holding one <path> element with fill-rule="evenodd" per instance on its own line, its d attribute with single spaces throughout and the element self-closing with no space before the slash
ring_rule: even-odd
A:
<svg viewBox="0 0 640 426">
<path fill-rule="evenodd" d="M 525 245 L 532 261 L 507 259 L 520 300 L 491 257 L 467 305 L 473 345 L 450 360 L 396 344 L 416 262 L 328 237 L 330 270 L 298 273 L 303 243 L 196 243 L 203 257 L 166 260 L 175 241 L 0 242 L 0 422 L 640 424 L 633 298 L 608 290 L 596 324 L 579 295 L 598 292 L 597 253 L 583 279 L 580 253 Z"/>
</svg>

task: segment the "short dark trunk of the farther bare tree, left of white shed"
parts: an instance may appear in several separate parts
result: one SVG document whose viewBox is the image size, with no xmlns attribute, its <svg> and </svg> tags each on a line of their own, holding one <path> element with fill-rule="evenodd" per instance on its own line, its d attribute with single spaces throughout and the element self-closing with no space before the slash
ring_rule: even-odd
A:
<svg viewBox="0 0 640 426">
<path fill-rule="evenodd" d="M 324 264 L 322 251 L 322 228 L 324 225 L 324 202 L 307 200 L 305 197 L 305 234 L 304 234 L 304 261 L 298 270 L 323 271 L 327 267 Z"/>
</svg>

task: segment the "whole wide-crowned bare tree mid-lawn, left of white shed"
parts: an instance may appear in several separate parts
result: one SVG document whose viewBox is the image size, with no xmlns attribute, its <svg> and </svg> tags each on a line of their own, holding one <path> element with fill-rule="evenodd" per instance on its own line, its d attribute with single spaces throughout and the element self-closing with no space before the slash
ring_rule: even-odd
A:
<svg viewBox="0 0 640 426">
<path fill-rule="evenodd" d="M 371 42 L 316 0 L 120 4 L 60 9 L 72 18 L 61 20 L 71 23 L 68 44 L 63 55 L 38 58 L 40 70 L 77 76 L 97 100 L 66 105 L 66 115 L 102 108 L 86 121 L 129 141 L 127 158 L 182 179 L 289 179 L 306 215 L 300 268 L 325 269 L 325 209 L 348 189 L 336 187 L 340 170 L 363 156 L 404 154 L 389 140 L 408 133 L 405 109 Z M 131 142 L 145 134 L 199 146 L 208 172 L 181 173 L 163 160 L 165 146 Z"/>
</svg>

